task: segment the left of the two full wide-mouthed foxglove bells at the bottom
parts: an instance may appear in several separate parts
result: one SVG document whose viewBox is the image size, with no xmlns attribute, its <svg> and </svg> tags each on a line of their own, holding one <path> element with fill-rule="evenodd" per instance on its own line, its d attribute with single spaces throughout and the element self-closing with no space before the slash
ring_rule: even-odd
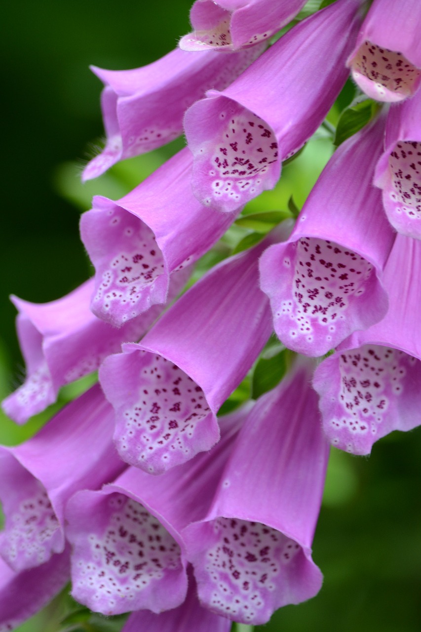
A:
<svg viewBox="0 0 421 632">
<path fill-rule="evenodd" d="M 221 420 L 212 454 L 161 477 L 128 468 L 101 492 L 81 491 L 66 509 L 73 597 L 103 614 L 178 607 L 186 595 L 181 530 L 208 511 L 250 405 Z"/>
</svg>

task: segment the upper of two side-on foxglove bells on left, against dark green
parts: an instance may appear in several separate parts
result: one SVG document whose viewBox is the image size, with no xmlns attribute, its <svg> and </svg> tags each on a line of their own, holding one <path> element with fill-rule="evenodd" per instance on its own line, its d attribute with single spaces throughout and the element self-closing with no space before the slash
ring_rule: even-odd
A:
<svg viewBox="0 0 421 632">
<path fill-rule="evenodd" d="M 125 158 L 144 154 L 181 135 L 186 107 L 206 90 L 223 90 L 262 52 L 259 46 L 220 58 L 211 51 L 191 55 L 175 49 L 133 70 L 92 67 L 104 83 L 102 116 L 107 142 L 83 171 L 83 180 L 100 176 Z"/>
</svg>

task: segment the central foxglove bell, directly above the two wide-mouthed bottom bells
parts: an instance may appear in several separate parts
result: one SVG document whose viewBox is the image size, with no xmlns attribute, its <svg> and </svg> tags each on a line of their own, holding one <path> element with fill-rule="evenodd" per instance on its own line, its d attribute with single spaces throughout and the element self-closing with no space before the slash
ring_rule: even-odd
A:
<svg viewBox="0 0 421 632">
<path fill-rule="evenodd" d="M 116 446 L 130 465 L 159 474 L 218 441 L 216 413 L 272 331 L 257 266 L 271 239 L 214 267 L 141 344 L 123 345 L 102 365 Z"/>
</svg>

